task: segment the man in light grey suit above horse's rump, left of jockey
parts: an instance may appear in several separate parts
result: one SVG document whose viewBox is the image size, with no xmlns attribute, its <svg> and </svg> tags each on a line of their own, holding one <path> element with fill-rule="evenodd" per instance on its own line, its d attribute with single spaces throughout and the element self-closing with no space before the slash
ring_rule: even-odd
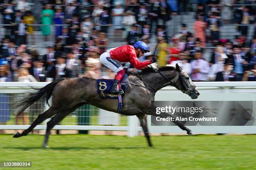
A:
<svg viewBox="0 0 256 170">
<path fill-rule="evenodd" d="M 75 59 L 74 52 L 67 53 L 66 67 L 72 70 L 72 77 L 79 77 L 81 73 L 81 62 Z"/>
</svg>

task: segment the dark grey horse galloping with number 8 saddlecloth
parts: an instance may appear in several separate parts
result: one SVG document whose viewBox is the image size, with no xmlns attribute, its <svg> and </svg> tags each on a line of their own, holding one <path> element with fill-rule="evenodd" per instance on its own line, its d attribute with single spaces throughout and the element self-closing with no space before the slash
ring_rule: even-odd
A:
<svg viewBox="0 0 256 170">
<path fill-rule="evenodd" d="M 152 144 L 148 133 L 146 115 L 160 117 L 170 116 L 167 113 L 156 115 L 156 107 L 151 105 L 156 92 L 167 85 L 172 85 L 189 95 L 192 99 L 196 99 L 199 95 L 199 92 L 187 73 L 177 64 L 176 67 L 155 68 L 149 66 L 142 72 L 129 74 L 128 78 L 130 83 L 123 97 L 123 110 L 121 114 L 136 115 L 138 117 L 149 146 L 152 146 Z M 52 96 L 52 105 L 44 113 L 38 115 L 27 130 L 24 130 L 21 134 L 16 132 L 13 137 L 18 138 L 27 135 L 36 125 L 55 115 L 47 122 L 44 147 L 47 147 L 49 134 L 54 125 L 64 119 L 69 113 L 76 110 L 77 107 L 90 104 L 104 110 L 117 112 L 117 100 L 113 102 L 111 99 L 102 99 L 97 92 L 95 79 L 87 77 L 60 78 L 45 87 L 34 89 L 36 92 L 29 92 L 27 97 L 18 102 L 17 106 L 22 108 L 17 112 L 17 115 L 39 99 L 48 103 L 48 100 Z M 180 122 L 173 122 L 182 130 L 186 130 L 187 134 L 193 134 L 190 129 Z"/>
</svg>

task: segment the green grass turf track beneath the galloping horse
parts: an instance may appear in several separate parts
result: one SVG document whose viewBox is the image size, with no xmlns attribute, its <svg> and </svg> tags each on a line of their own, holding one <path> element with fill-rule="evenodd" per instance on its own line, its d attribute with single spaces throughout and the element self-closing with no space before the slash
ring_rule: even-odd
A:
<svg viewBox="0 0 256 170">
<path fill-rule="evenodd" d="M 43 138 L 0 135 L 0 162 L 32 161 L 18 170 L 256 169 L 256 135 L 153 136 L 152 148 L 143 136 L 51 135 L 51 148 Z"/>
</svg>

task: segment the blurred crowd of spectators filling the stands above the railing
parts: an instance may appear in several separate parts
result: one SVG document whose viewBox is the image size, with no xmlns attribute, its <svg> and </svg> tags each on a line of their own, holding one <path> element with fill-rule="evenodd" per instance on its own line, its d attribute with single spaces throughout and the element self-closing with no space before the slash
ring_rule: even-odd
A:
<svg viewBox="0 0 256 170">
<path fill-rule="evenodd" d="M 99 61 L 110 42 L 111 24 L 113 41 L 133 45 L 142 40 L 151 51 L 155 47 L 151 43 L 154 35 L 161 40 L 157 52 L 159 66 L 179 63 L 194 81 L 255 80 L 256 36 L 247 39 L 246 25 L 255 23 L 255 6 L 232 8 L 235 3 L 253 4 L 254 0 L 45 0 L 40 20 L 35 19 L 38 16 L 26 0 L 2 1 L 1 14 L 6 25 L 0 45 L 1 81 L 113 77 Z M 166 22 L 188 11 L 195 11 L 194 32 L 189 32 L 184 23 L 180 25 L 182 31 L 170 38 Z M 35 23 L 43 25 L 30 25 Z M 241 34 L 234 40 L 220 39 L 221 25 L 228 23 L 240 24 L 237 28 Z M 56 24 L 54 30 L 49 26 L 52 24 Z M 28 39 L 32 44 L 36 41 L 35 30 L 41 31 L 44 41 L 54 32 L 55 41 L 47 45 L 44 55 L 28 47 Z M 207 44 L 215 46 L 209 61 L 203 56 Z M 153 53 L 146 53 L 140 60 L 150 57 Z M 123 65 L 127 72 L 136 70 L 128 63 Z"/>
</svg>

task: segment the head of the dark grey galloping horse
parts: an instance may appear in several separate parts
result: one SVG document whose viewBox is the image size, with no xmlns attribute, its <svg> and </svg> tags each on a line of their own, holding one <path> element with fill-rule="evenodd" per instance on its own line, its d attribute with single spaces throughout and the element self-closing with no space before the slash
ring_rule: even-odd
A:
<svg viewBox="0 0 256 170">
<path fill-rule="evenodd" d="M 184 72 L 178 64 L 176 64 L 175 70 L 179 73 L 179 80 L 176 84 L 179 87 L 179 90 L 189 95 L 192 99 L 197 99 L 200 93 L 198 92 L 195 84 L 192 82 L 187 73 Z"/>
</svg>

